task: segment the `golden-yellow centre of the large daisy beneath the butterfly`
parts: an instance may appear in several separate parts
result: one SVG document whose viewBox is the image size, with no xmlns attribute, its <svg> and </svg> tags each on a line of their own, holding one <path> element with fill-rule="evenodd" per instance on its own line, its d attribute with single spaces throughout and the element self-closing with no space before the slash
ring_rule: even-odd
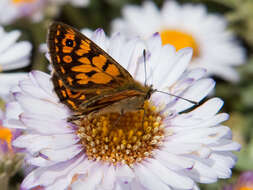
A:
<svg viewBox="0 0 253 190">
<path fill-rule="evenodd" d="M 148 102 L 144 110 L 123 115 L 108 113 L 79 121 L 77 135 L 88 158 L 131 166 L 152 157 L 152 151 L 163 142 L 163 116 Z"/>
</svg>

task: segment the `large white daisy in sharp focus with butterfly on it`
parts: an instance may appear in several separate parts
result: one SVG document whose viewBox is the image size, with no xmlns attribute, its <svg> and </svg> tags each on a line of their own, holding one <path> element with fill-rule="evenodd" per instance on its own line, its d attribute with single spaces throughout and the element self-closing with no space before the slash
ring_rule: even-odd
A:
<svg viewBox="0 0 253 190">
<path fill-rule="evenodd" d="M 186 71 L 191 48 L 162 46 L 158 34 L 144 42 L 120 34 L 107 38 L 98 29 L 91 39 L 141 83 L 145 49 L 147 83 L 155 89 L 199 102 L 214 88 L 211 78 L 203 78 L 205 70 Z M 145 102 L 145 112 L 69 122 L 73 113 L 59 102 L 48 74 L 30 72 L 13 95 L 15 101 L 7 105 L 13 114 L 5 125 L 24 131 L 13 145 L 25 149 L 26 163 L 35 166 L 22 190 L 198 189 L 197 183 L 230 177 L 236 162 L 231 151 L 240 148 L 221 124 L 228 114 L 218 113 L 219 98 L 192 108 L 188 101 L 156 92 Z"/>
</svg>

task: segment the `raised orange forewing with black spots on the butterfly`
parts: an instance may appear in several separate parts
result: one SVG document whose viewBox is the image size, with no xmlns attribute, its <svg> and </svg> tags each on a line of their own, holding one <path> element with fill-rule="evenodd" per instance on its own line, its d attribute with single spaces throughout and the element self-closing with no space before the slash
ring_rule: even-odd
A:
<svg viewBox="0 0 253 190">
<path fill-rule="evenodd" d="M 55 22 L 48 36 L 53 67 L 68 88 L 106 89 L 133 83 L 127 70 L 74 28 Z"/>
</svg>

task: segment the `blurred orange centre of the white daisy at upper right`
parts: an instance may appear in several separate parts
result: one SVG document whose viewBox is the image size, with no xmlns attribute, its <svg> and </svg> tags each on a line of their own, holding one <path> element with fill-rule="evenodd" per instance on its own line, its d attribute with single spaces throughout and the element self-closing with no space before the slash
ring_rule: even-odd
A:
<svg viewBox="0 0 253 190">
<path fill-rule="evenodd" d="M 193 48 L 193 58 L 199 56 L 198 43 L 192 35 L 179 30 L 163 30 L 160 35 L 163 45 L 171 44 L 177 51 L 185 47 L 191 47 Z"/>
</svg>

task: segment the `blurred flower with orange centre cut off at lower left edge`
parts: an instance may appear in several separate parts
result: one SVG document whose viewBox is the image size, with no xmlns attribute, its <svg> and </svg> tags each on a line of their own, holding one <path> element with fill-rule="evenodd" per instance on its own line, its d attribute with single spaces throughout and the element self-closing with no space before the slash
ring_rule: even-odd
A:
<svg viewBox="0 0 253 190">
<path fill-rule="evenodd" d="M 1 189 L 8 189 L 9 178 L 21 168 L 23 156 L 11 145 L 18 131 L 3 127 L 4 117 L 5 113 L 0 110 L 0 184 Z"/>
</svg>

